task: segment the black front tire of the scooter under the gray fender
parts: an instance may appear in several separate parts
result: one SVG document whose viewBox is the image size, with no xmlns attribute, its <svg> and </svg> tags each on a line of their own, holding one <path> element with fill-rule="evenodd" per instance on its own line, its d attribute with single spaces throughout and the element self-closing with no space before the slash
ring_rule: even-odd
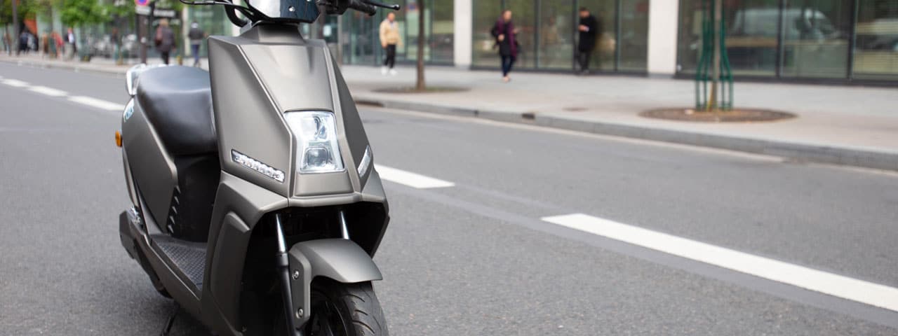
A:
<svg viewBox="0 0 898 336">
<path fill-rule="evenodd" d="M 327 324 L 325 326 L 325 324 Z M 381 303 L 371 282 L 339 283 L 316 280 L 312 284 L 312 318 L 307 334 L 313 336 L 388 336 Z M 330 328 L 330 333 L 325 331 Z"/>
</svg>

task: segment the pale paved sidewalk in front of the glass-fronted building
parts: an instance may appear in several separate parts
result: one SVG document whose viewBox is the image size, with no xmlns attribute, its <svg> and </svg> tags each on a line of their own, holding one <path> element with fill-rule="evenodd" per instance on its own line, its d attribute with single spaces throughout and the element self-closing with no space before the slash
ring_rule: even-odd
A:
<svg viewBox="0 0 898 336">
<path fill-rule="evenodd" d="M 128 68 L 105 59 L 84 64 L 0 56 L 0 61 L 103 73 L 124 73 Z M 898 90 L 894 88 L 736 82 L 736 107 L 768 108 L 798 117 L 771 123 L 707 124 L 638 116 L 653 108 L 691 107 L 691 81 L 514 73 L 512 82 L 503 83 L 495 72 L 431 66 L 427 69 L 428 85 L 470 90 L 410 94 L 374 91 L 414 84 L 414 68 L 398 70 L 397 76 L 383 76 L 375 67 L 342 67 L 359 103 L 898 170 Z"/>
</svg>

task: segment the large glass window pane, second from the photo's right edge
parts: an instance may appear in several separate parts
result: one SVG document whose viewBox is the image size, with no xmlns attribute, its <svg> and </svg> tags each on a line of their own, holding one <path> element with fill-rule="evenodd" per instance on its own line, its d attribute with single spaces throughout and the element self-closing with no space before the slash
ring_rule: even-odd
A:
<svg viewBox="0 0 898 336">
<path fill-rule="evenodd" d="M 782 13 L 782 76 L 848 75 L 850 0 L 793 0 Z"/>
</svg>

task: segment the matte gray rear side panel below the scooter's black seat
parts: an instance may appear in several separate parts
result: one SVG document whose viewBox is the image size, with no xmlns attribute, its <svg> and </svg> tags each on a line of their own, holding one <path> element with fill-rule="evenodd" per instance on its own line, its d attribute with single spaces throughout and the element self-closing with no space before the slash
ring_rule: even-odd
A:
<svg viewBox="0 0 898 336">
<path fill-rule="evenodd" d="M 131 177 L 149 210 L 144 211 L 144 215 L 149 214 L 156 223 L 165 223 L 172 204 L 172 191 L 178 184 L 174 160 L 165 151 L 162 139 L 137 101 L 134 113 L 121 128 L 122 147 L 128 155 Z"/>
</svg>

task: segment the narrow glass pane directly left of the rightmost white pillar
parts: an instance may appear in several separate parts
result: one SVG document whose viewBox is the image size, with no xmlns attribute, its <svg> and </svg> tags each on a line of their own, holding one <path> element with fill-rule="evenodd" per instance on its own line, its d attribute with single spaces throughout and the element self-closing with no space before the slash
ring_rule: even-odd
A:
<svg viewBox="0 0 898 336">
<path fill-rule="evenodd" d="M 618 70 L 646 71 L 648 63 L 648 0 L 621 1 L 621 48 Z"/>
</svg>

